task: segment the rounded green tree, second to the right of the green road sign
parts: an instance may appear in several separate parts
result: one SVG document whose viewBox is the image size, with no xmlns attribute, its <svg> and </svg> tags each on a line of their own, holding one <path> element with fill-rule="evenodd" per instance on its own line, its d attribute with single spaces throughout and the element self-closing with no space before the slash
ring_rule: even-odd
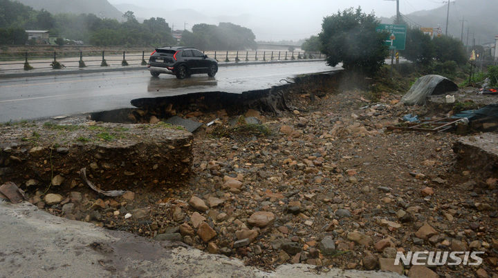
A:
<svg viewBox="0 0 498 278">
<path fill-rule="evenodd" d="M 434 38 L 435 58 L 437 61 L 455 61 L 459 65 L 467 62 L 465 47 L 459 39 L 448 36 Z"/>
</svg>

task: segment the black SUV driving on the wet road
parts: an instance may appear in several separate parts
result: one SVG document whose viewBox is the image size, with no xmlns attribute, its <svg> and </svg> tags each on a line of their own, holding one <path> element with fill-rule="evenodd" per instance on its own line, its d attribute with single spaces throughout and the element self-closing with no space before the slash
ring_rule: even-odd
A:
<svg viewBox="0 0 498 278">
<path fill-rule="evenodd" d="M 210 77 L 214 77 L 218 72 L 218 63 L 215 59 L 208 58 L 208 55 L 195 48 L 185 47 L 156 48 L 149 58 L 147 67 L 153 77 L 167 73 L 176 75 L 178 79 L 199 73 L 207 73 Z"/>
</svg>

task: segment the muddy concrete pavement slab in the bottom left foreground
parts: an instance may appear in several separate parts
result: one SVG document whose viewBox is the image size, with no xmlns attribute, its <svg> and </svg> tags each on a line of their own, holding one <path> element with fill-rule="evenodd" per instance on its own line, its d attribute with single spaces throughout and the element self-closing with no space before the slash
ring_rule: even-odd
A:
<svg viewBox="0 0 498 278">
<path fill-rule="evenodd" d="M 317 272 L 303 264 L 265 272 L 238 259 L 55 217 L 26 202 L 0 200 L 0 233 L 0 269 L 6 277 L 400 277 Z"/>
</svg>

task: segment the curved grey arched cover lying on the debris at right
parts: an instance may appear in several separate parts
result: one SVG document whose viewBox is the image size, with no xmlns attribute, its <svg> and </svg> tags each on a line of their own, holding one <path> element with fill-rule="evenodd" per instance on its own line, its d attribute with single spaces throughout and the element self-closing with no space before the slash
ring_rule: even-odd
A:
<svg viewBox="0 0 498 278">
<path fill-rule="evenodd" d="M 458 90 L 457 84 L 441 75 L 425 75 L 413 84 L 412 88 L 401 98 L 408 106 L 424 105 L 430 95 L 443 95 Z"/>
</svg>

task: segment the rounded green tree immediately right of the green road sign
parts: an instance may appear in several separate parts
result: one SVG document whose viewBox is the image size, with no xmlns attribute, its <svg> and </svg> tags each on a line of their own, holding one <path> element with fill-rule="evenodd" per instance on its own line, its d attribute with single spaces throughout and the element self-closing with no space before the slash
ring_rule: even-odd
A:
<svg viewBox="0 0 498 278">
<path fill-rule="evenodd" d="M 427 65 L 434 59 L 434 43 L 428 34 L 420 29 L 409 28 L 407 30 L 406 48 L 400 54 L 409 61 Z"/>
</svg>

